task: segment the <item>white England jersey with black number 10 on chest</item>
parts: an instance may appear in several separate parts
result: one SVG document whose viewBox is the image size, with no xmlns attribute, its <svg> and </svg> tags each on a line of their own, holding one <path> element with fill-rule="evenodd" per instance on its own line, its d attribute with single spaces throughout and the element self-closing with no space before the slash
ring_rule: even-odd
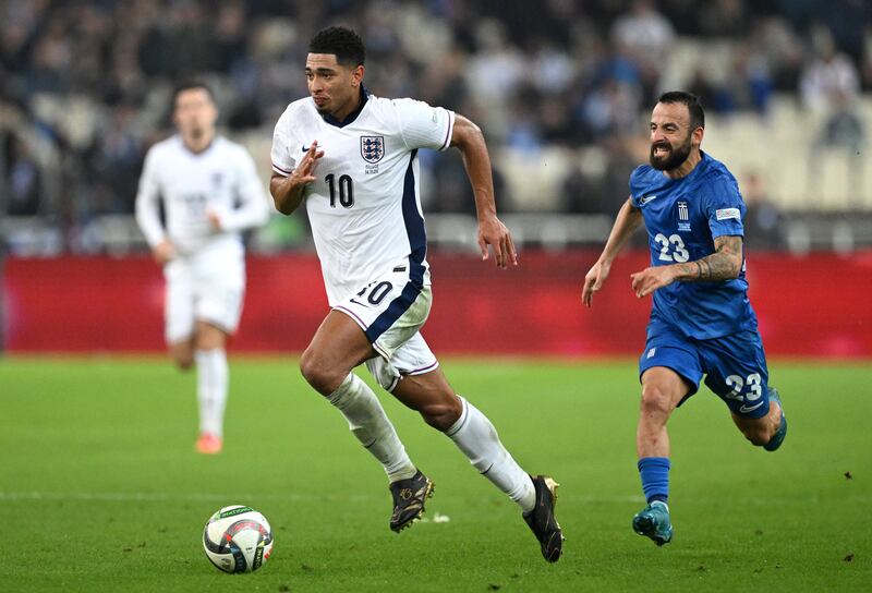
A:
<svg viewBox="0 0 872 593">
<path fill-rule="evenodd" d="M 272 135 L 272 170 L 289 176 L 313 141 L 324 150 L 304 201 L 330 305 L 398 266 L 429 285 L 419 148 L 446 149 L 455 114 L 413 99 L 364 94 L 339 123 L 311 97 L 288 106 Z"/>
</svg>

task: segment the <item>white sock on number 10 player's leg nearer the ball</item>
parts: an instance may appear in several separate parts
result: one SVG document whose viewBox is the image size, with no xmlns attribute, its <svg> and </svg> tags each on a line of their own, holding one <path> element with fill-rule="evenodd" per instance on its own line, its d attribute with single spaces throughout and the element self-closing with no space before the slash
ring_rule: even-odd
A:
<svg viewBox="0 0 872 593">
<path fill-rule="evenodd" d="M 405 455 L 405 447 L 385 415 L 382 402 L 363 379 L 349 373 L 342 385 L 327 399 L 346 416 L 348 427 L 358 440 L 382 463 L 390 482 L 415 474 L 417 470 Z"/>
</svg>

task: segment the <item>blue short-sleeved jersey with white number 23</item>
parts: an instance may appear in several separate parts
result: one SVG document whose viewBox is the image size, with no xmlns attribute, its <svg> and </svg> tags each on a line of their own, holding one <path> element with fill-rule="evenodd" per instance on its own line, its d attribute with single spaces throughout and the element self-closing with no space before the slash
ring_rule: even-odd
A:
<svg viewBox="0 0 872 593">
<path fill-rule="evenodd" d="M 746 208 L 736 178 L 705 153 L 681 179 L 669 179 L 649 165 L 637 168 L 630 176 L 630 198 L 644 216 L 652 266 L 701 259 L 715 252 L 716 237 L 744 235 Z M 734 280 L 673 282 L 654 291 L 651 323 L 667 323 L 697 339 L 756 329 L 744 261 Z"/>
</svg>

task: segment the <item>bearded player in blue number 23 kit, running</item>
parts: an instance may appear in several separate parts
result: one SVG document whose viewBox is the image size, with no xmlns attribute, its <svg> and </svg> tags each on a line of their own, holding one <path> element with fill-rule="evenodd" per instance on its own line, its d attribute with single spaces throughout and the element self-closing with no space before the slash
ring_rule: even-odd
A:
<svg viewBox="0 0 872 593">
<path fill-rule="evenodd" d="M 787 434 L 748 300 L 744 204 L 732 174 L 700 149 L 704 131 L 698 97 L 683 92 L 659 97 L 651 118 L 650 165 L 630 176 L 630 197 L 582 290 L 583 303 L 591 306 L 615 256 L 644 222 L 651 266 L 631 275 L 631 286 L 640 299 L 653 294 L 639 361 L 642 402 L 635 435 L 647 506 L 632 525 L 657 545 L 673 537 L 666 422 L 697 392 L 703 376 L 753 445 L 774 451 Z"/>
</svg>

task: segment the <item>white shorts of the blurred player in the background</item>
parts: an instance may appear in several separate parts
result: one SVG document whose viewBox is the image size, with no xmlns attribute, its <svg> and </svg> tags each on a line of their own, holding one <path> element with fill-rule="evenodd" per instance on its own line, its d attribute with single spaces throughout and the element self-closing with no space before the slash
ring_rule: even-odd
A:
<svg viewBox="0 0 872 593">
<path fill-rule="evenodd" d="M 164 267 L 167 280 L 167 343 L 194 335 L 197 320 L 235 332 L 245 293 L 245 259 L 218 250 L 173 259 Z"/>
</svg>

